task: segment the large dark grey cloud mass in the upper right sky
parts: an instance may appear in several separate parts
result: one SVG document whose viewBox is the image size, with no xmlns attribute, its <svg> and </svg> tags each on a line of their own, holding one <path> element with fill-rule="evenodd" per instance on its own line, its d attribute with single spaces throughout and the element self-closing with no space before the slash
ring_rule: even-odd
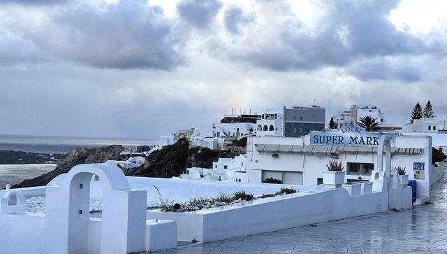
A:
<svg viewBox="0 0 447 254">
<path fill-rule="evenodd" d="M 275 8 L 267 8 L 269 12 L 257 13 L 258 16 L 263 15 L 265 20 L 273 20 L 279 16 L 286 19 L 283 23 L 272 22 L 258 27 L 259 32 L 274 27 L 270 30 L 275 34 L 270 34 L 271 38 L 263 38 L 270 40 L 269 43 L 261 42 L 258 43 L 261 46 L 246 46 L 241 51 L 230 52 L 230 59 L 274 71 L 293 71 L 316 70 L 324 66 L 345 67 L 365 57 L 406 57 L 440 52 L 439 49 L 443 48 L 439 47 L 440 40 L 427 45 L 427 39 L 421 35 L 395 28 L 388 17 L 399 2 L 319 1 L 317 4 L 325 10 L 325 15 L 318 20 L 318 28 L 310 31 L 291 12 L 288 2 L 277 1 Z M 381 67 L 380 64 L 386 66 Z M 400 63 L 368 63 L 351 69 L 351 74 L 358 75 L 360 79 L 415 81 L 420 78 L 413 66 L 395 64 Z"/>
</svg>

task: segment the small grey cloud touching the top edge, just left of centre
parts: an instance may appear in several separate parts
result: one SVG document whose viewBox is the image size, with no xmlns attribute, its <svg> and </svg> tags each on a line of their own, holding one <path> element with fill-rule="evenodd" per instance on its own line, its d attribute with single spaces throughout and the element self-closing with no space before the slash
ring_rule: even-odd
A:
<svg viewBox="0 0 447 254">
<path fill-rule="evenodd" d="M 177 3 L 177 12 L 182 20 L 199 29 L 208 28 L 221 8 L 219 0 L 183 0 Z"/>
</svg>

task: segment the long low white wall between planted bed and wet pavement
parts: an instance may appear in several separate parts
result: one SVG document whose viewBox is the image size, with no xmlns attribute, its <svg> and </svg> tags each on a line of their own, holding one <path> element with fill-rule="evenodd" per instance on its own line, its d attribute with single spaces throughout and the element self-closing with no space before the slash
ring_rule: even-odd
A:
<svg viewBox="0 0 447 254">
<path fill-rule="evenodd" d="M 388 191 L 351 197 L 345 188 L 316 189 L 186 213 L 147 211 L 176 220 L 177 241 L 210 242 L 388 211 Z"/>
</svg>

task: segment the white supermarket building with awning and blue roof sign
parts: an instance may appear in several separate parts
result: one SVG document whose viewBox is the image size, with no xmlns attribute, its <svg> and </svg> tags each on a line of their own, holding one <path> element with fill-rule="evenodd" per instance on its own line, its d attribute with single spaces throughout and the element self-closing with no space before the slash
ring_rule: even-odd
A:
<svg viewBox="0 0 447 254">
<path fill-rule="evenodd" d="M 339 131 L 311 132 L 300 138 L 249 137 L 248 181 L 261 183 L 271 177 L 286 184 L 318 185 L 323 183 L 322 171 L 327 170 L 325 165 L 330 160 L 342 162 L 346 183 L 369 181 L 378 168 L 376 141 L 382 135 L 392 141 L 392 167 L 405 167 L 409 179 L 417 181 L 418 197 L 428 197 L 439 169 L 432 166 L 432 138 L 365 132 L 356 125 L 346 125 Z"/>
</svg>

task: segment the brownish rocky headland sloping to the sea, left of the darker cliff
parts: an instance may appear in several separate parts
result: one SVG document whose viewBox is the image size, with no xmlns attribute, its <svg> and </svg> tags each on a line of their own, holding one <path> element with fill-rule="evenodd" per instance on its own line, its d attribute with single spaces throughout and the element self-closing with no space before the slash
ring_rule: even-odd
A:
<svg viewBox="0 0 447 254">
<path fill-rule="evenodd" d="M 71 153 L 59 157 L 56 162 L 56 169 L 33 179 L 25 180 L 22 183 L 13 185 L 13 188 L 24 188 L 33 186 L 45 186 L 47 183 L 60 174 L 67 173 L 72 167 L 78 164 L 102 163 L 107 160 L 119 160 L 119 153 L 123 147 L 120 145 L 104 146 L 102 148 L 78 148 Z"/>
</svg>

